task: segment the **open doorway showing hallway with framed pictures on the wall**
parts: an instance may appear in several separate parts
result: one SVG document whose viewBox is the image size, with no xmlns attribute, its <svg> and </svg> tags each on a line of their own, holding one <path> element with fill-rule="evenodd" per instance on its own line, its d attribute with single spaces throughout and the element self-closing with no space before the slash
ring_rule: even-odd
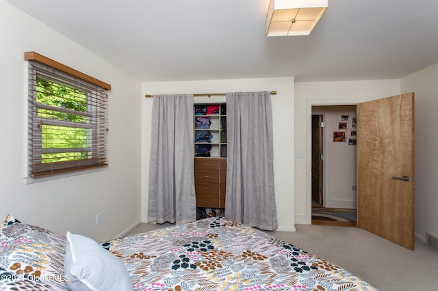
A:
<svg viewBox="0 0 438 291">
<path fill-rule="evenodd" d="M 357 226 L 356 105 L 312 106 L 311 223 Z"/>
</svg>

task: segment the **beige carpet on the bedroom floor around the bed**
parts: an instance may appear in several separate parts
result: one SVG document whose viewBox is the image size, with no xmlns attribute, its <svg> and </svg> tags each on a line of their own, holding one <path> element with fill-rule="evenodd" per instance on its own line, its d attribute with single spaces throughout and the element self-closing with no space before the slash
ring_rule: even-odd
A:
<svg viewBox="0 0 438 291">
<path fill-rule="evenodd" d="M 142 223 L 129 234 L 171 226 Z M 324 258 L 380 291 L 437 291 L 438 251 L 415 242 L 409 251 L 359 227 L 296 225 L 296 232 L 266 232 Z"/>
</svg>

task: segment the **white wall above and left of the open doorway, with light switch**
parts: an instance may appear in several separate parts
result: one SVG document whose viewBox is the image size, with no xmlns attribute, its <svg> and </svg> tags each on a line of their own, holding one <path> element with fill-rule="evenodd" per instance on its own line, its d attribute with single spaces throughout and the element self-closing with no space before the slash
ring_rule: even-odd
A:
<svg viewBox="0 0 438 291">
<path fill-rule="evenodd" d="M 400 94 L 400 80 L 295 83 L 295 221 L 311 223 L 311 107 L 357 105 Z M 296 156 L 296 154 L 294 154 Z"/>
</svg>

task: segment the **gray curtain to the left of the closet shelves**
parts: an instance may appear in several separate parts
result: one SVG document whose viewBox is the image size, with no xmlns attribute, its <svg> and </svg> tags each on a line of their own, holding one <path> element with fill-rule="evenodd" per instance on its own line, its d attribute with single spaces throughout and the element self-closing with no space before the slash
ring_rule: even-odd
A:
<svg viewBox="0 0 438 291">
<path fill-rule="evenodd" d="M 196 220 L 193 95 L 154 95 L 148 221 Z"/>
</svg>

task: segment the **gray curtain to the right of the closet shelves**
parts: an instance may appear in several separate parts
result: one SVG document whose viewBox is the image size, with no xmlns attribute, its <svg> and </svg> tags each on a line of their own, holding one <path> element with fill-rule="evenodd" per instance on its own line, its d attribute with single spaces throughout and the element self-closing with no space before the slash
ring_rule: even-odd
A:
<svg viewBox="0 0 438 291">
<path fill-rule="evenodd" d="M 273 155 L 270 92 L 227 93 L 226 217 L 276 229 Z"/>
</svg>

